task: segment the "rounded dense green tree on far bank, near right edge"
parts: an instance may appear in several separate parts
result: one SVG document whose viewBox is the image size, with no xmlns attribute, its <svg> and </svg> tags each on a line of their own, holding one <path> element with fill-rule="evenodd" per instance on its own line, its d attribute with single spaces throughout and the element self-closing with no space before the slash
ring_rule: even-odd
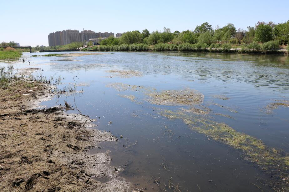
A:
<svg viewBox="0 0 289 192">
<path fill-rule="evenodd" d="M 262 43 L 271 41 L 273 39 L 273 29 L 268 24 L 258 24 L 256 26 L 255 38 Z"/>
</svg>

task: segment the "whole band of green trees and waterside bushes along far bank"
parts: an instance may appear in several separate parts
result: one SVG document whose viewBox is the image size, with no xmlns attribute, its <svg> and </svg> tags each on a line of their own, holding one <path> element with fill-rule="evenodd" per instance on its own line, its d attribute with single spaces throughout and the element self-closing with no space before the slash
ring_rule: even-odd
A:
<svg viewBox="0 0 289 192">
<path fill-rule="evenodd" d="M 236 29 L 228 23 L 215 29 L 205 22 L 196 26 L 194 31 L 174 31 L 165 28 L 163 31 L 148 29 L 128 31 L 120 38 L 109 37 L 83 51 L 202 51 L 220 53 L 276 53 L 287 54 L 289 51 L 289 20 L 284 23 L 259 21 L 246 30 Z M 5 42 L 3 42 L 5 43 Z M 12 42 L 13 43 L 13 42 Z M 7 43 L 6 43 L 7 44 Z M 9 43 L 8 43 L 9 44 Z M 10 42 L 11 44 L 11 42 Z M 83 46 L 82 42 L 73 42 L 59 46 L 36 46 L 32 51 L 40 50 L 74 50 Z M 19 50 L 25 51 L 25 50 Z M 28 51 L 28 50 L 27 50 Z"/>
</svg>

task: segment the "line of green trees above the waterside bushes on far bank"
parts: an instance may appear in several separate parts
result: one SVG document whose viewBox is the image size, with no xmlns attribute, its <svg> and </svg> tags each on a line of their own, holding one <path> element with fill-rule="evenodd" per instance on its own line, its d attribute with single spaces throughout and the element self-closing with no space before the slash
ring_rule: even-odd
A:
<svg viewBox="0 0 289 192">
<path fill-rule="evenodd" d="M 208 22 L 196 26 L 194 31 L 171 32 L 170 28 L 165 27 L 163 31 L 155 30 L 151 33 L 148 29 L 144 29 L 142 32 L 135 30 L 123 33 L 120 38 L 107 38 L 101 41 L 100 45 L 132 45 L 136 43 L 148 45 L 173 43 L 179 45 L 182 43 L 200 43 L 207 46 L 213 44 L 213 47 L 218 47 L 225 43 L 248 45 L 250 43 L 266 43 L 269 41 L 275 41 L 274 43 L 276 44 L 277 42 L 279 45 L 288 43 L 289 20 L 278 24 L 259 21 L 254 27 L 247 27 L 247 30 L 236 29 L 232 23 L 228 23 L 222 28 L 217 26 L 213 29 Z"/>
</svg>

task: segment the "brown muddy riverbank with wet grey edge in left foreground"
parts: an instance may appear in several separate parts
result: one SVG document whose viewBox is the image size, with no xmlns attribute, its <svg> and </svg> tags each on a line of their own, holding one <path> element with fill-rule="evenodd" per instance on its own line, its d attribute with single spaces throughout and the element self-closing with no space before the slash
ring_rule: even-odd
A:
<svg viewBox="0 0 289 192">
<path fill-rule="evenodd" d="M 101 141 L 116 141 L 86 116 L 62 108 L 33 109 L 52 96 L 48 85 L 12 81 L 0 88 L 1 191 L 128 191 L 131 184 L 109 165 L 107 152 L 88 154 Z M 98 179 L 109 178 L 107 182 Z"/>
</svg>

